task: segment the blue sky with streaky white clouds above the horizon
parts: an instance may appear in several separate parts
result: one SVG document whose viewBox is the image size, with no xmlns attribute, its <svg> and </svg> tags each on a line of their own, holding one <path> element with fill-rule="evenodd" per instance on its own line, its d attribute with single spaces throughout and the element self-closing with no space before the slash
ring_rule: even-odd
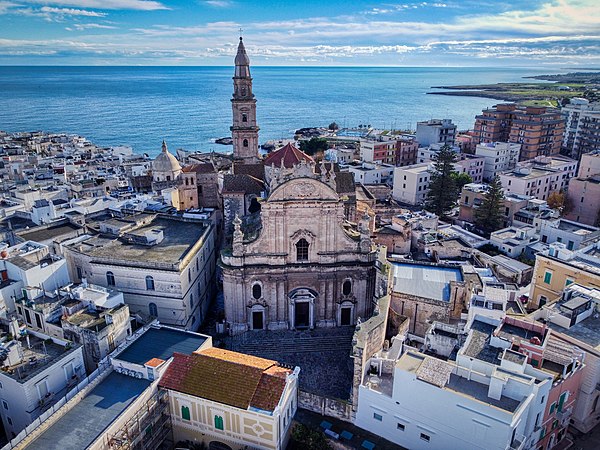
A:
<svg viewBox="0 0 600 450">
<path fill-rule="evenodd" d="M 0 0 L 0 65 L 600 67 L 598 0 Z"/>
</svg>

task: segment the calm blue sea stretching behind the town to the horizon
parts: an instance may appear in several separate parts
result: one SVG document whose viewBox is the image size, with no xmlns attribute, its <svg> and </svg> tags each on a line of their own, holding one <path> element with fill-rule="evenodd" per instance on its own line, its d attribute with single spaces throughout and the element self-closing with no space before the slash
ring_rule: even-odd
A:
<svg viewBox="0 0 600 450">
<path fill-rule="evenodd" d="M 426 95 L 432 86 L 524 81 L 514 68 L 252 67 L 260 142 L 297 128 L 369 124 L 414 129 L 452 118 L 459 129 L 493 99 Z M 550 72 L 552 73 L 552 72 Z M 0 67 L 0 130 L 66 132 L 97 145 L 229 151 L 233 67 Z"/>
</svg>

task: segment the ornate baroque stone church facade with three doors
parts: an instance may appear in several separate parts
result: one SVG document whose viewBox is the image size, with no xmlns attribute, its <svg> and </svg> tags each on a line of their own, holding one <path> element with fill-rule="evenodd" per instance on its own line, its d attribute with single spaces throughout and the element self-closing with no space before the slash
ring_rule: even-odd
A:
<svg viewBox="0 0 600 450">
<path fill-rule="evenodd" d="M 354 325 L 370 317 L 375 254 L 368 218 L 345 222 L 333 171 L 303 162 L 272 180 L 252 240 L 239 218 L 221 255 L 225 316 L 232 334 L 258 329 Z"/>
</svg>

